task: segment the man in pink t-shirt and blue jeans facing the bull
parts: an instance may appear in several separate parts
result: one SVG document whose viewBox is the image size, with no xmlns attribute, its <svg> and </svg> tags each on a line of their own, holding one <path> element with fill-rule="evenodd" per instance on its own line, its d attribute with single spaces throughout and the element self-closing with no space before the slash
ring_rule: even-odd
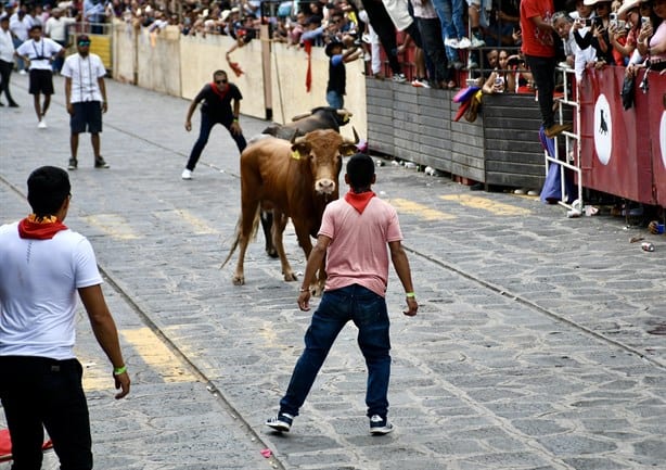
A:
<svg viewBox="0 0 666 470">
<path fill-rule="evenodd" d="M 345 325 L 358 328 L 358 345 L 368 366 L 366 392 L 370 433 L 393 431 L 388 421 L 388 381 L 390 377 L 389 321 L 386 308 L 388 259 L 406 292 L 405 315 L 417 315 L 419 304 L 396 209 L 376 198 L 374 162 L 357 153 L 347 163 L 345 182 L 350 189 L 344 198 L 324 209 L 317 244 L 310 252 L 303 275 L 298 307 L 310 309 L 309 282 L 326 261 L 326 283 L 317 312 L 305 334 L 305 351 L 298 358 L 278 416 L 266 425 L 287 432 L 303 406 L 331 346 Z"/>
</svg>

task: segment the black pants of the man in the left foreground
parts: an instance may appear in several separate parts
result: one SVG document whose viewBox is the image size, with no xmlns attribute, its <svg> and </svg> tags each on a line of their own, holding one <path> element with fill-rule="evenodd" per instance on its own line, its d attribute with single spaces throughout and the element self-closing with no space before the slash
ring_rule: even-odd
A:
<svg viewBox="0 0 666 470">
<path fill-rule="evenodd" d="M 43 428 L 61 470 L 92 469 L 88 405 L 78 360 L 1 356 L 0 399 L 12 436 L 12 470 L 40 470 Z"/>
</svg>

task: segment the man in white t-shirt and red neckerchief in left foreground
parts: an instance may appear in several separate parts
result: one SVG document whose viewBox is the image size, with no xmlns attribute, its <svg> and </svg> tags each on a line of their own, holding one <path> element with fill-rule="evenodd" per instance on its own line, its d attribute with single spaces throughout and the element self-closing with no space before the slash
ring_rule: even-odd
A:
<svg viewBox="0 0 666 470">
<path fill-rule="evenodd" d="M 67 172 L 37 168 L 28 178 L 33 214 L 0 226 L 0 401 L 13 469 L 41 468 L 43 428 L 60 468 L 92 469 L 82 368 L 74 355 L 77 293 L 112 364 L 116 399 L 129 393 L 94 252 L 63 224 L 71 191 Z"/>
</svg>

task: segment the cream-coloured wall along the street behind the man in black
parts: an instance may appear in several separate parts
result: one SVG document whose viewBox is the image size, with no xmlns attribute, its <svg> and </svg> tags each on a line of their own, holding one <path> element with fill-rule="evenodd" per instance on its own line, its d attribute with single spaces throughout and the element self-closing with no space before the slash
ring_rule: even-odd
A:
<svg viewBox="0 0 666 470">
<path fill-rule="evenodd" d="M 236 77 L 225 58 L 234 42 L 229 36 L 182 36 L 176 27 L 151 35 L 145 28 L 135 29 L 123 22 L 114 24 L 113 35 L 113 77 L 120 81 L 192 99 L 212 80 L 213 72 L 221 68 L 243 93 L 242 114 L 261 119 L 272 115 L 274 122 L 283 124 L 312 107 L 326 105 L 329 59 L 322 48 L 312 48 L 312 85 L 307 92 L 308 61 L 299 48 L 253 40 L 231 54 L 231 61 L 244 72 Z M 270 60 L 270 75 L 261 66 L 264 58 Z M 363 62 L 348 63 L 346 68 L 345 107 L 354 114 L 351 125 L 364 138 L 368 131 Z M 350 126 L 341 131 L 353 136 Z"/>
</svg>

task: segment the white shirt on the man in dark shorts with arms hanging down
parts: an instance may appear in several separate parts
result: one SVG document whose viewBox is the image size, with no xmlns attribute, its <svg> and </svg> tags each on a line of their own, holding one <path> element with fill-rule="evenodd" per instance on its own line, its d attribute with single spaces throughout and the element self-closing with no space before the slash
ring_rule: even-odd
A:
<svg viewBox="0 0 666 470">
<path fill-rule="evenodd" d="M 63 76 L 72 78 L 72 103 L 85 101 L 104 101 L 98 78 L 106 75 L 106 68 L 98 54 L 82 58 L 76 53 L 65 59 Z"/>
</svg>

